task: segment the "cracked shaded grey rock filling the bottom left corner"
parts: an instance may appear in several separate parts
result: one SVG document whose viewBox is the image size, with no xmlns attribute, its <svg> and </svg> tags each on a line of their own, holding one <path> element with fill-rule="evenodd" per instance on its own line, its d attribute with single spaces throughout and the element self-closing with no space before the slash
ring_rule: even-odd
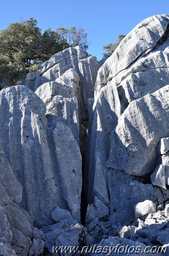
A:
<svg viewBox="0 0 169 256">
<path fill-rule="evenodd" d="M 28 212 L 9 198 L 1 184 L 0 204 L 0 255 L 38 256 L 43 252 L 43 233 L 33 227 Z M 39 241 L 36 247 L 35 240 Z"/>
</svg>

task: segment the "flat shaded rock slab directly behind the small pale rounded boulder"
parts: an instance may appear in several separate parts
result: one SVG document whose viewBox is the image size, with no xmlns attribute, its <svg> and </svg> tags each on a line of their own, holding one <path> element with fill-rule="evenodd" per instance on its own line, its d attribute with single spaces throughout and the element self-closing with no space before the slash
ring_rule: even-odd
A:
<svg viewBox="0 0 169 256">
<path fill-rule="evenodd" d="M 110 221 L 112 224 L 134 221 L 134 205 L 145 200 L 160 205 L 169 197 L 169 191 L 153 187 L 146 179 L 110 169 L 108 172 L 110 191 Z M 144 183 L 146 184 L 144 184 Z M 164 196 L 164 197 L 163 197 Z"/>
</svg>

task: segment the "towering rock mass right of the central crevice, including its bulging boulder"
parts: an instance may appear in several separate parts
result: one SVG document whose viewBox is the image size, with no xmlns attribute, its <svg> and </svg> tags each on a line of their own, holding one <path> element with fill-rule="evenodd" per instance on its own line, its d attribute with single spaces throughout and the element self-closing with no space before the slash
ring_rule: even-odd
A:
<svg viewBox="0 0 169 256">
<path fill-rule="evenodd" d="M 168 52 L 169 15 L 152 16 L 98 70 L 88 131 L 90 203 L 95 196 L 116 200 L 108 188 L 109 168 L 149 176 L 157 167 L 158 144 L 169 134 Z"/>
</svg>

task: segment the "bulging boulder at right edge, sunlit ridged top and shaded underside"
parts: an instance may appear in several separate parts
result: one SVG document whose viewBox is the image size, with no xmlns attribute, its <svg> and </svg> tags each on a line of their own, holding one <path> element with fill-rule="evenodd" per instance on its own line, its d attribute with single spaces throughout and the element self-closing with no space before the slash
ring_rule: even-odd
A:
<svg viewBox="0 0 169 256">
<path fill-rule="evenodd" d="M 146 175 L 154 170 L 157 147 L 169 134 L 169 85 L 130 102 L 110 135 L 107 167 L 131 175 Z"/>
</svg>

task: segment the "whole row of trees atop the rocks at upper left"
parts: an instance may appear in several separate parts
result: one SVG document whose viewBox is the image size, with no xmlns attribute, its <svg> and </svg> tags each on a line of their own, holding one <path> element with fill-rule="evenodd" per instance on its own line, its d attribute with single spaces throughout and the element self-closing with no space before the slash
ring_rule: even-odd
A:
<svg viewBox="0 0 169 256">
<path fill-rule="evenodd" d="M 0 83 L 15 84 L 55 53 L 77 45 L 86 50 L 88 43 L 83 28 L 47 28 L 42 34 L 33 18 L 11 23 L 0 31 Z"/>
</svg>

